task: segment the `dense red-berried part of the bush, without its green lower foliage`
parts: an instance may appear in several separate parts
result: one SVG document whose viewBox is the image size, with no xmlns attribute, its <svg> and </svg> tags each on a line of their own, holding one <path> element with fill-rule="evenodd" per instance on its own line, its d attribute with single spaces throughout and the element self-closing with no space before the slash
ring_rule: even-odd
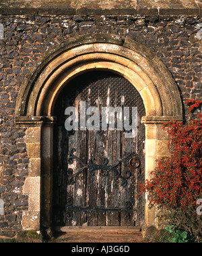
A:
<svg viewBox="0 0 202 256">
<path fill-rule="evenodd" d="M 189 111 L 202 101 L 190 100 Z M 202 198 L 202 115 L 184 125 L 178 122 L 164 124 L 170 137 L 170 157 L 158 160 L 156 170 L 145 184 L 139 184 L 140 194 L 147 192 L 149 205 L 180 208 L 187 211 Z"/>
</svg>

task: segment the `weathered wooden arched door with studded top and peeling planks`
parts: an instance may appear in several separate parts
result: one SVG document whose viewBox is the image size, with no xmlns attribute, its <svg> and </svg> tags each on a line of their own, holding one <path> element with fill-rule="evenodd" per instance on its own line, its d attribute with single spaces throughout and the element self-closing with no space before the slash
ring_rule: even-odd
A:
<svg viewBox="0 0 202 256">
<path fill-rule="evenodd" d="M 97 107 L 137 107 L 137 136 L 124 128 L 67 131 L 65 109 L 81 101 Z M 137 180 L 144 180 L 145 116 L 143 101 L 125 78 L 104 71 L 88 72 L 65 86 L 55 105 L 53 219 L 56 226 L 139 226 L 144 219 Z M 116 115 L 115 115 L 116 116 Z M 88 120 L 90 116 L 86 116 Z M 100 118 L 101 120 L 101 118 Z M 115 121 L 116 118 L 115 118 Z M 116 123 L 115 123 L 116 124 Z M 100 126 L 101 127 L 101 126 Z M 132 157 L 139 160 L 131 168 Z"/>
</svg>

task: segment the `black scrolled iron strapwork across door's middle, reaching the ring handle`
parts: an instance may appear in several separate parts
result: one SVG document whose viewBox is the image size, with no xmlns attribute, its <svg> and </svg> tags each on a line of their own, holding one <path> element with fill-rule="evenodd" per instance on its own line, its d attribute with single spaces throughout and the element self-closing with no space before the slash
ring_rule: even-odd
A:
<svg viewBox="0 0 202 256">
<path fill-rule="evenodd" d="M 129 161 L 129 165 L 133 168 L 138 168 L 140 165 L 140 161 L 138 165 L 132 166 L 133 161 L 137 161 L 137 159 L 139 160 L 138 156 L 136 153 L 131 153 L 129 155 L 127 155 L 127 157 L 124 157 L 123 159 L 120 159 L 119 161 L 117 161 L 116 163 L 114 163 L 113 165 L 108 165 L 108 159 L 107 158 L 103 158 L 104 163 L 102 164 L 96 164 L 93 161 L 95 161 L 94 158 L 91 158 L 89 160 L 89 163 L 83 163 L 83 161 L 81 161 L 81 159 L 79 159 L 79 157 L 77 157 L 76 155 L 73 155 L 73 153 L 76 151 L 76 149 L 71 149 L 70 153 L 69 153 L 69 157 L 67 159 L 67 163 L 69 164 L 73 164 L 73 160 L 75 159 L 76 161 L 78 161 L 81 164 L 81 169 L 78 172 L 75 172 L 73 174 L 73 169 L 69 168 L 67 170 L 67 176 L 69 176 L 69 183 L 70 184 L 74 184 L 75 181 L 73 180 L 73 178 L 75 178 L 75 176 L 81 174 L 81 172 L 83 172 L 84 170 L 89 170 L 89 174 L 90 176 L 94 176 L 95 175 L 95 171 L 96 170 L 102 170 L 102 176 L 108 176 L 108 172 L 112 171 L 114 172 L 114 174 L 116 174 L 117 176 L 119 176 L 119 178 L 121 178 L 122 183 L 121 186 L 125 187 L 127 186 L 128 182 L 127 179 L 129 179 L 131 177 L 131 172 L 129 170 L 125 170 L 124 171 L 124 176 L 120 174 L 120 172 L 118 172 L 116 170 L 116 168 L 123 162 L 128 160 Z M 131 158 L 132 157 L 132 158 Z M 130 159 L 130 160 L 129 160 Z M 133 159 L 133 161 L 131 160 Z M 137 167 L 136 167 L 137 166 Z"/>
</svg>

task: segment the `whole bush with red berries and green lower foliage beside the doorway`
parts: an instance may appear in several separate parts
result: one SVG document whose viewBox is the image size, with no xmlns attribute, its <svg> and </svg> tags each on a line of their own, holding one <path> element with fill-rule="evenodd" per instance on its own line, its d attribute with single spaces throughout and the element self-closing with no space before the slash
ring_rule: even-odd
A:
<svg viewBox="0 0 202 256">
<path fill-rule="evenodd" d="M 202 101 L 187 101 L 189 111 L 199 111 Z M 187 232 L 199 241 L 202 235 L 202 215 L 197 213 L 197 200 L 202 199 L 202 114 L 184 125 L 164 124 L 168 133 L 170 157 L 157 161 L 150 180 L 139 184 L 139 194 L 147 193 L 149 207 L 164 210 L 168 225 Z M 185 233 L 183 233 L 185 234 Z"/>
</svg>

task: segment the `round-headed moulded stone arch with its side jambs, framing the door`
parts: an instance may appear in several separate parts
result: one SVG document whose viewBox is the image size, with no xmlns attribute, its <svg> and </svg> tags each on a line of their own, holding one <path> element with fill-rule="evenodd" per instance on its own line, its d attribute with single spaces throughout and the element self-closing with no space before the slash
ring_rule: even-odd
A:
<svg viewBox="0 0 202 256">
<path fill-rule="evenodd" d="M 15 124 L 24 126 L 30 158 L 24 194 L 29 209 L 24 212 L 24 230 L 51 226 L 53 109 L 68 82 L 90 70 L 108 70 L 129 80 L 145 105 L 145 176 L 159 157 L 168 155 L 163 122 L 182 120 L 182 103 L 174 79 L 164 63 L 149 49 L 111 34 L 88 34 L 53 47 L 32 67 L 18 95 Z M 155 209 L 146 207 L 145 224 L 158 226 Z"/>
</svg>

